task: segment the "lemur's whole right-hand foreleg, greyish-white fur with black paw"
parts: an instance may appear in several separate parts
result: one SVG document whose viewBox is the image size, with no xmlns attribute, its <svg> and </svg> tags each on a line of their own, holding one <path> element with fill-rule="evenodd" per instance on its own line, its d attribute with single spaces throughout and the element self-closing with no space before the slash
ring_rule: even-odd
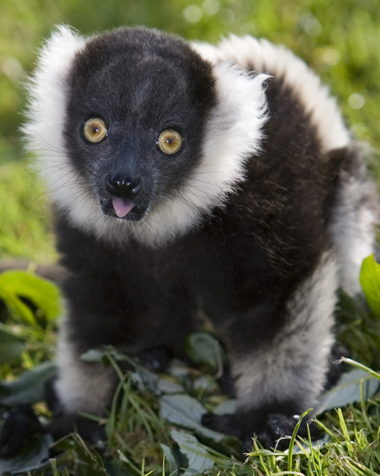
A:
<svg viewBox="0 0 380 476">
<path fill-rule="evenodd" d="M 336 261 L 326 253 L 285 303 L 285 325 L 269 342 L 242 353 L 241 336 L 229 334 L 238 411 L 236 415 L 206 414 L 203 424 L 237 436 L 249 450 L 253 434 L 267 447 L 291 435 L 298 421 L 293 416 L 315 408 L 325 387 L 337 288 Z M 244 327 L 243 331 L 254 335 L 254 329 Z"/>
</svg>

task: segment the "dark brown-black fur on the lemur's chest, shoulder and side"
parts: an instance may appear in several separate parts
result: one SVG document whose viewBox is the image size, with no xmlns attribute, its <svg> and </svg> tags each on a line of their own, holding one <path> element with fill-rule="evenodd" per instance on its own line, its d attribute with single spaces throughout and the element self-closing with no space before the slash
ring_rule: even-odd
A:
<svg viewBox="0 0 380 476">
<path fill-rule="evenodd" d="M 263 151 L 201 228 L 160 249 L 133 241 L 111 248 L 61 219 L 59 249 L 76 275 L 66 284 L 70 327 L 83 349 L 167 345 L 183 357 L 199 297 L 227 347 L 241 353 L 285 325 L 286 299 L 330 247 L 340 161 L 322 154 L 310 118 L 281 78 L 271 79 L 267 96 Z"/>
</svg>

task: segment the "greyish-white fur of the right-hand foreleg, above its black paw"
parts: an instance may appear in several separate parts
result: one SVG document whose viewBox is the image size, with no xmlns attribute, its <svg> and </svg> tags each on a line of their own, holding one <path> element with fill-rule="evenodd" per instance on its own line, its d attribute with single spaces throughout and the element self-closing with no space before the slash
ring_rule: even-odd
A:
<svg viewBox="0 0 380 476">
<path fill-rule="evenodd" d="M 287 303 L 288 324 L 250 356 L 236 360 L 232 356 L 242 409 L 259 409 L 276 401 L 299 402 L 300 411 L 315 406 L 334 342 L 337 288 L 337 265 L 326 253 Z"/>
</svg>

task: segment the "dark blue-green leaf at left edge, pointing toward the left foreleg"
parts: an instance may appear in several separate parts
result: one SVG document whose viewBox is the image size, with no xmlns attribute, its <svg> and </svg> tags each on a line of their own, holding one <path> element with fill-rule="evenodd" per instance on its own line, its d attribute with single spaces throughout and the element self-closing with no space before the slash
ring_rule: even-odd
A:
<svg viewBox="0 0 380 476">
<path fill-rule="evenodd" d="M 54 362 L 43 362 L 15 382 L 0 382 L 0 405 L 14 407 L 20 403 L 33 404 L 43 400 L 44 384 L 56 373 Z"/>
</svg>

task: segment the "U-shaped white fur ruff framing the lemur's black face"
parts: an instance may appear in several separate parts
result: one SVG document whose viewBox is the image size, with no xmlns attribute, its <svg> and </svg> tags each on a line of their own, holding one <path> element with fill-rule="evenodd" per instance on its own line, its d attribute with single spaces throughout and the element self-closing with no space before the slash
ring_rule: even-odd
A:
<svg viewBox="0 0 380 476">
<path fill-rule="evenodd" d="M 132 235 L 147 245 L 162 245 L 194 228 L 244 179 L 245 160 L 259 151 L 267 119 L 263 86 L 267 76 L 242 72 L 230 62 L 215 66 L 218 104 L 208 120 L 200 165 L 176 198 L 153 207 L 140 222 L 130 222 L 104 216 L 98 199 L 84 187 L 64 149 L 67 73 L 85 42 L 61 26 L 42 49 L 30 87 L 30 121 L 24 127 L 29 148 L 39 156 L 51 197 L 68 212 L 74 226 L 112 241 L 123 242 Z"/>
</svg>

